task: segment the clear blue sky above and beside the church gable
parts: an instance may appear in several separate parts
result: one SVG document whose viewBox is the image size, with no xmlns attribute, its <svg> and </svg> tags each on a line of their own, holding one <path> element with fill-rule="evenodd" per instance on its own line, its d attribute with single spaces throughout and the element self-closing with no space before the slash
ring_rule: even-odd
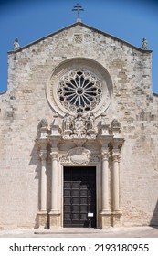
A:
<svg viewBox="0 0 158 256">
<path fill-rule="evenodd" d="M 15 0 L 0 2 L 0 93 L 7 88 L 7 52 L 16 37 L 23 47 L 76 21 L 73 5 L 82 5 L 82 22 L 142 48 L 153 50 L 153 92 L 158 93 L 158 1 Z"/>
</svg>

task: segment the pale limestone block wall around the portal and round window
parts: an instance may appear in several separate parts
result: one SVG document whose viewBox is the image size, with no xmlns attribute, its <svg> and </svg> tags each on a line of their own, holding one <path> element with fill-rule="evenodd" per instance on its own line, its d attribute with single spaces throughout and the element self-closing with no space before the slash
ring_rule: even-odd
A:
<svg viewBox="0 0 158 256">
<path fill-rule="evenodd" d="M 122 224 L 158 225 L 158 96 L 152 91 L 151 51 L 77 23 L 8 53 L 8 90 L 0 95 L 0 228 L 36 226 L 37 125 L 42 118 L 53 120 L 46 95 L 53 70 L 75 58 L 95 60 L 111 76 L 104 114 L 109 124 L 113 118 L 121 122 L 125 139 Z"/>
</svg>

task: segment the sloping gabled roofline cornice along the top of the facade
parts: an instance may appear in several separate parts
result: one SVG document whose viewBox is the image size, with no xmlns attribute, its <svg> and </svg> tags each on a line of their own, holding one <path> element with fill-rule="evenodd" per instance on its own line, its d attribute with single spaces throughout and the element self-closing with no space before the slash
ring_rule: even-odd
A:
<svg viewBox="0 0 158 256">
<path fill-rule="evenodd" d="M 53 37 L 53 36 L 57 35 L 58 33 L 62 32 L 62 31 L 64 31 L 64 30 L 67 30 L 67 29 L 69 29 L 69 28 L 71 28 L 71 27 L 75 27 L 75 26 L 77 26 L 77 25 L 80 25 L 80 26 L 82 26 L 82 27 L 87 27 L 87 28 L 92 29 L 93 31 L 95 31 L 95 32 L 97 32 L 97 33 L 100 33 L 100 34 L 104 35 L 104 36 L 111 37 L 111 38 L 113 38 L 114 40 L 117 40 L 117 41 L 119 41 L 119 42 L 121 42 L 121 43 L 123 43 L 123 44 L 125 44 L 125 45 L 127 45 L 127 46 L 129 46 L 129 47 L 131 47 L 131 48 L 134 48 L 134 49 L 136 49 L 136 50 L 141 51 L 142 53 L 151 53 L 151 52 L 152 52 L 152 50 L 138 48 L 138 47 L 133 46 L 132 44 L 130 44 L 130 43 L 128 43 L 128 42 L 126 42 L 126 41 L 124 41 L 124 40 L 118 38 L 118 37 L 111 36 L 110 34 L 105 33 L 105 32 L 103 32 L 103 31 L 101 31 L 101 30 L 99 30 L 99 29 L 97 29 L 97 28 L 90 27 L 90 26 L 88 26 L 88 25 L 86 25 L 86 24 L 84 24 L 84 23 L 78 21 L 78 22 L 76 22 L 76 23 L 74 23 L 74 24 L 72 24 L 72 25 L 69 25 L 68 27 L 61 28 L 61 29 L 59 29 L 58 31 L 56 31 L 56 32 L 54 32 L 54 33 L 51 33 L 51 34 L 47 35 L 46 37 L 41 37 L 40 39 L 37 39 L 36 41 L 34 41 L 34 42 L 32 42 L 32 43 L 29 43 L 28 45 L 26 45 L 26 46 L 24 46 L 24 47 L 22 47 L 22 48 L 18 48 L 18 49 L 16 49 L 16 50 L 8 51 L 8 54 L 20 52 L 21 50 L 23 50 L 23 49 L 25 49 L 25 48 L 28 48 L 28 47 L 30 47 L 30 46 L 32 46 L 32 45 L 35 45 L 35 44 L 37 44 L 38 42 L 40 42 L 40 41 L 42 41 L 42 40 L 44 40 L 44 39 L 47 39 L 48 37 Z"/>
</svg>

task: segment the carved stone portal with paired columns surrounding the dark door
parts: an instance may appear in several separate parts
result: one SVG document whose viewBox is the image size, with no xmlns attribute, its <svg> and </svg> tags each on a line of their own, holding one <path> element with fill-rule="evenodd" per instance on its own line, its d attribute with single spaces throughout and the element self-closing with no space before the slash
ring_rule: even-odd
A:
<svg viewBox="0 0 158 256">
<path fill-rule="evenodd" d="M 107 124 L 105 117 L 102 117 L 100 125 L 98 123 L 96 126 L 95 122 L 95 116 L 90 112 L 87 115 L 78 113 L 76 116 L 67 113 L 62 129 L 59 127 L 58 115 L 54 116 L 50 126 L 45 119 L 39 123 L 37 144 L 41 158 L 41 207 L 37 214 L 38 227 L 46 229 L 47 223 L 52 229 L 62 227 L 64 212 L 61 208 L 62 195 L 58 189 L 63 183 L 61 166 L 64 170 L 65 166 L 73 165 L 96 166 L 98 227 L 121 226 L 120 153 L 124 142 L 121 123 L 114 119 L 111 125 Z M 47 165 L 50 158 L 51 166 Z M 51 171 L 50 212 L 47 212 L 47 168 Z"/>
</svg>

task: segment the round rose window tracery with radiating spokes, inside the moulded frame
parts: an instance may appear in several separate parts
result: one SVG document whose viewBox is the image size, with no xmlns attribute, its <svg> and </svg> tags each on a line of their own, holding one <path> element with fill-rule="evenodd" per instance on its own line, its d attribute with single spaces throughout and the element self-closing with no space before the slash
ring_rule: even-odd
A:
<svg viewBox="0 0 158 256">
<path fill-rule="evenodd" d="M 58 100 L 70 112 L 89 112 L 101 97 L 100 80 L 89 71 L 73 70 L 59 80 Z"/>
</svg>

